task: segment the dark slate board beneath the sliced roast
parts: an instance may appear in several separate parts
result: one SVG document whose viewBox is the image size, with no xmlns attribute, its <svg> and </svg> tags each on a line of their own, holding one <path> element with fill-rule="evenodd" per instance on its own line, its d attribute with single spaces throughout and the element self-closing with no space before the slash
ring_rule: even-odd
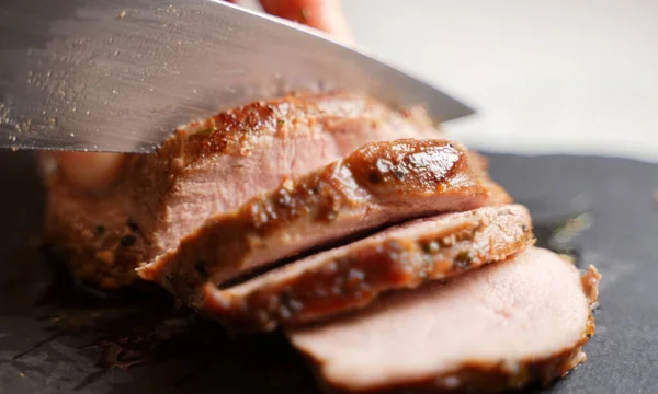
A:
<svg viewBox="0 0 658 394">
<path fill-rule="evenodd" d="M 317 392 L 279 335 L 229 339 L 160 291 L 72 283 L 37 247 L 43 196 L 30 160 L 0 154 L 0 393 Z M 543 392 L 657 393 L 658 165 L 491 155 L 491 173 L 532 210 L 544 245 L 603 275 L 588 361 Z M 556 237 L 572 218 L 588 220 Z"/>
</svg>

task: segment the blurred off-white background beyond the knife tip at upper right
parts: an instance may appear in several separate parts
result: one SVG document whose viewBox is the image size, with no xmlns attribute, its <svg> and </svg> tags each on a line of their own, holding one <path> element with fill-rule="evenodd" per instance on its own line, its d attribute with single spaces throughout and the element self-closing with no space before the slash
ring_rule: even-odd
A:
<svg viewBox="0 0 658 394">
<path fill-rule="evenodd" d="M 477 108 L 445 124 L 469 147 L 658 162 L 657 0 L 342 3 L 360 46 Z"/>
</svg>

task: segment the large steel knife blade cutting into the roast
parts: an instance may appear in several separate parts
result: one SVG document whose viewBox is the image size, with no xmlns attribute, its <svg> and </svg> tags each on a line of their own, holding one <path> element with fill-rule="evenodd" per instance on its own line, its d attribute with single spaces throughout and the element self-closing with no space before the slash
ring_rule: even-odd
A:
<svg viewBox="0 0 658 394">
<path fill-rule="evenodd" d="M 149 152 L 177 126 L 297 91 L 473 111 L 329 36 L 219 0 L 7 0 L 0 147 Z"/>
</svg>

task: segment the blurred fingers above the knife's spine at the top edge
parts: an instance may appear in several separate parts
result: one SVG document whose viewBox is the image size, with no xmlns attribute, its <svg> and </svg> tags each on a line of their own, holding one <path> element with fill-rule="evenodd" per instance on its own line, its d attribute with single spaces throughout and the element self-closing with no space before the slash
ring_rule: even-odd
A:
<svg viewBox="0 0 658 394">
<path fill-rule="evenodd" d="M 352 33 L 339 0 L 260 0 L 265 12 L 299 22 L 352 43 Z"/>
</svg>

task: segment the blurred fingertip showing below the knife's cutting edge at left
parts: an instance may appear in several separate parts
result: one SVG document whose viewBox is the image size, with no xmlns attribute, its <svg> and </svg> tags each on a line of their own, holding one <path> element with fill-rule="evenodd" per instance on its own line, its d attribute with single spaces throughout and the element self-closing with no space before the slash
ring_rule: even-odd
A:
<svg viewBox="0 0 658 394">
<path fill-rule="evenodd" d="M 61 174 L 80 188 L 103 190 L 121 171 L 122 153 L 54 152 Z"/>
</svg>

